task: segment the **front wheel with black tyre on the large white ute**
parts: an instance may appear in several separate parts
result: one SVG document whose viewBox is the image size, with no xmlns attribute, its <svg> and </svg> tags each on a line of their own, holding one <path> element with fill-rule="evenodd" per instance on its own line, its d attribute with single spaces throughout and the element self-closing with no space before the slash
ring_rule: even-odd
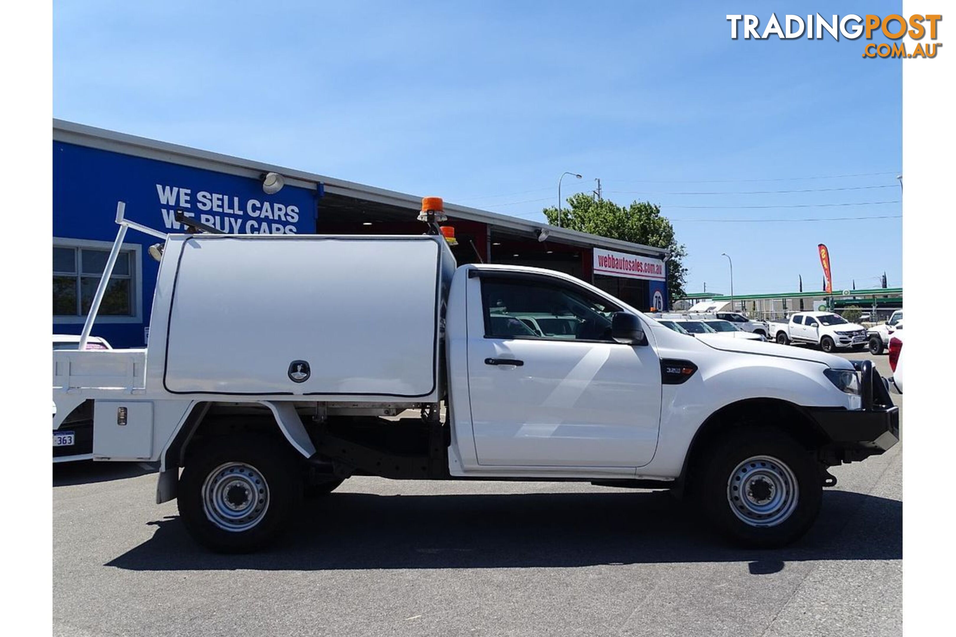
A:
<svg viewBox="0 0 956 637">
<path fill-rule="evenodd" d="M 771 548 L 797 540 L 820 510 L 823 482 L 813 455 L 774 429 L 746 427 L 708 450 L 695 492 L 730 540 Z"/>
</svg>

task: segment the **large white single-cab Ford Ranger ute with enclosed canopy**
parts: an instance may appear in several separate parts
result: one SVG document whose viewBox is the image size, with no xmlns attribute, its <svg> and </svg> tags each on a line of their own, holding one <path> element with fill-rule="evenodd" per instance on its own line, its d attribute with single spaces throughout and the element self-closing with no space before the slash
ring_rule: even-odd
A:
<svg viewBox="0 0 956 637">
<path fill-rule="evenodd" d="M 148 348 L 53 352 L 54 431 L 85 418 L 95 459 L 153 463 L 157 501 L 223 552 L 352 476 L 674 489 L 731 540 L 779 546 L 829 467 L 899 439 L 869 361 L 703 342 L 567 274 L 457 266 L 429 228 L 169 235 Z M 518 318 L 540 314 L 574 333 Z"/>
</svg>

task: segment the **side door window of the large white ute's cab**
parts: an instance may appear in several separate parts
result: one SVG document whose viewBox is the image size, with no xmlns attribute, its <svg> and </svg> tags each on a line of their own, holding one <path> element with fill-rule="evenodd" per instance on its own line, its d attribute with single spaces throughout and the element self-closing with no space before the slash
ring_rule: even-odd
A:
<svg viewBox="0 0 956 637">
<path fill-rule="evenodd" d="M 611 341 L 611 315 L 619 308 L 572 285 L 482 278 L 485 336 Z"/>
</svg>

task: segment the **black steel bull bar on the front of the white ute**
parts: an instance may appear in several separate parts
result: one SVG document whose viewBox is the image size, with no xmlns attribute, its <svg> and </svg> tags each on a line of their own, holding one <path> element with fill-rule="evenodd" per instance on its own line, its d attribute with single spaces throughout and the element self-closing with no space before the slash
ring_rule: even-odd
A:
<svg viewBox="0 0 956 637">
<path fill-rule="evenodd" d="M 821 459 L 830 465 L 879 456 L 900 441 L 900 408 L 870 361 L 854 361 L 860 372 L 863 407 L 813 407 L 810 414 L 828 438 Z"/>
</svg>

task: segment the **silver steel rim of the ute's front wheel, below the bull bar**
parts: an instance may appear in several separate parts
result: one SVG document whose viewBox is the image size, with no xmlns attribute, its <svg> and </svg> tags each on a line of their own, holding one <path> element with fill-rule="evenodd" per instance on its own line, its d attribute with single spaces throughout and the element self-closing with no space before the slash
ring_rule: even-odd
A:
<svg viewBox="0 0 956 637">
<path fill-rule="evenodd" d="M 737 518 L 750 526 L 776 526 L 793 515 L 800 489 L 793 471 L 771 456 L 749 457 L 727 483 L 727 500 Z"/>
</svg>

